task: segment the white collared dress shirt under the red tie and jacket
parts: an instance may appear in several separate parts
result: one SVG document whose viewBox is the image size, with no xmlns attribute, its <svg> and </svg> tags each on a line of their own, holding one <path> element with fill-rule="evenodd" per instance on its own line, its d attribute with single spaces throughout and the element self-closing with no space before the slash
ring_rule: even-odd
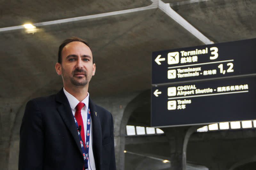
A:
<svg viewBox="0 0 256 170">
<path fill-rule="evenodd" d="M 68 102 L 70 104 L 71 110 L 73 115 L 75 116 L 76 113 L 76 105 L 79 103 L 79 100 L 76 99 L 76 97 L 72 96 L 70 93 L 68 93 L 64 88 L 63 91 L 65 95 L 68 98 Z M 85 106 L 81 110 L 81 115 L 84 123 L 84 136 L 86 137 L 86 130 L 87 130 L 87 109 L 89 105 L 89 93 L 87 92 L 87 97 L 82 101 L 82 103 L 85 104 Z M 74 121 L 75 122 L 75 121 Z M 88 168 L 89 170 L 96 170 L 95 168 L 95 162 L 92 152 L 92 119 L 90 120 L 90 143 L 89 143 L 89 161 L 88 161 Z"/>
</svg>

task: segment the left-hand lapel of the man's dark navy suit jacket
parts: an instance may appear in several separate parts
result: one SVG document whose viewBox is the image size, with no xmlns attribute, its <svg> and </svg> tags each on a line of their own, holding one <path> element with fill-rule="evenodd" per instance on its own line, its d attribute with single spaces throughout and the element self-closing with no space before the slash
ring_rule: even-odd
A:
<svg viewBox="0 0 256 170">
<path fill-rule="evenodd" d="M 56 101 L 59 103 L 57 104 L 57 110 L 59 111 L 60 116 L 62 117 L 64 123 L 67 125 L 68 130 L 71 132 L 73 138 L 75 139 L 76 145 L 78 146 L 79 151 L 83 155 L 80 139 L 77 134 L 77 128 L 76 128 L 74 116 L 70 108 L 70 104 L 68 103 L 68 99 L 64 94 L 63 88 L 59 91 L 59 93 L 57 93 Z"/>
</svg>

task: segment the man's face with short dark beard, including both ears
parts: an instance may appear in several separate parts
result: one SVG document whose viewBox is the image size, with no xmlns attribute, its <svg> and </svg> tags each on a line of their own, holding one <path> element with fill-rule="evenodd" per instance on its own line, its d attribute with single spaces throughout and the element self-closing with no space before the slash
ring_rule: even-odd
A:
<svg viewBox="0 0 256 170">
<path fill-rule="evenodd" d="M 82 42 L 73 41 L 63 48 L 61 57 L 62 63 L 57 63 L 55 68 L 62 75 L 64 86 L 88 85 L 96 69 L 90 48 Z"/>
</svg>

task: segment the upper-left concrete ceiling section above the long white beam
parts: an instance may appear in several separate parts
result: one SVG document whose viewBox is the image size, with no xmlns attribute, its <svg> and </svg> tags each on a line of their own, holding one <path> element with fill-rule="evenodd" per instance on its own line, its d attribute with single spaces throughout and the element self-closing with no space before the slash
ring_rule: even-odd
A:
<svg viewBox="0 0 256 170">
<path fill-rule="evenodd" d="M 0 27 L 45 22 L 148 6 L 150 0 L 1 0 Z"/>
</svg>

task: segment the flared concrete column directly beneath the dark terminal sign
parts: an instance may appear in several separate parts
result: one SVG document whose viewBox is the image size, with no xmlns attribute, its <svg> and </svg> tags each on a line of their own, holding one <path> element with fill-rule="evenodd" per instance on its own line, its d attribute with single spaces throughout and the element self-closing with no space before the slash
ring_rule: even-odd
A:
<svg viewBox="0 0 256 170">
<path fill-rule="evenodd" d="M 171 148 L 171 170 L 186 170 L 186 151 L 189 137 L 201 126 L 164 128 Z"/>
</svg>

